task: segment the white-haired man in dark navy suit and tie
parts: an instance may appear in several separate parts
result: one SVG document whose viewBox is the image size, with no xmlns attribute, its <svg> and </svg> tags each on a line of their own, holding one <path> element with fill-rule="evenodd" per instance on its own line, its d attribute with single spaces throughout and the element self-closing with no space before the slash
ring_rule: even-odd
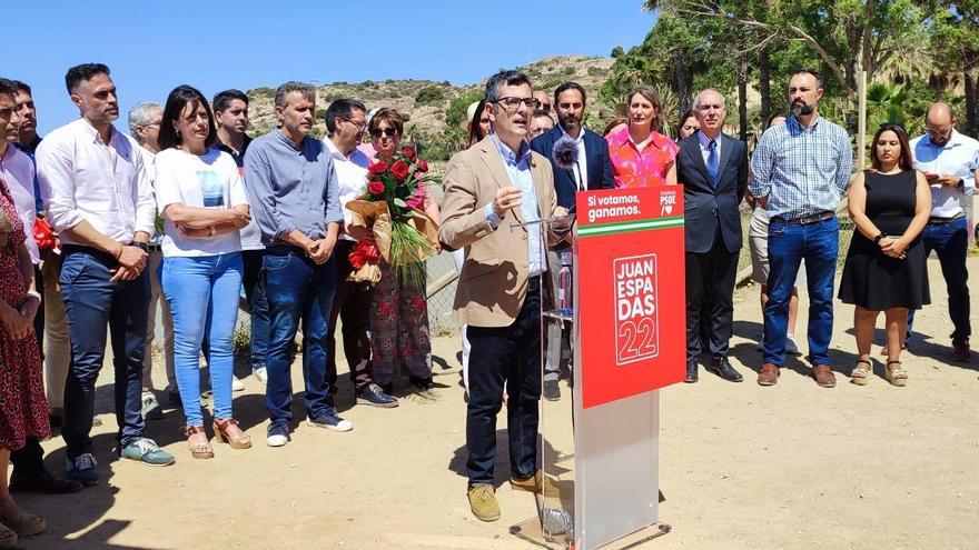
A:
<svg viewBox="0 0 979 550">
<path fill-rule="evenodd" d="M 748 189 L 748 146 L 721 132 L 724 98 L 704 90 L 693 101 L 700 130 L 680 141 L 676 179 L 683 184 L 686 232 L 686 382 L 696 382 L 701 323 L 709 323 L 708 370 L 732 382 L 728 362 L 733 323 L 734 273 L 741 250 L 738 204 Z M 706 299 L 706 302 L 705 300 Z M 709 306 L 705 308 L 704 303 Z"/>
</svg>

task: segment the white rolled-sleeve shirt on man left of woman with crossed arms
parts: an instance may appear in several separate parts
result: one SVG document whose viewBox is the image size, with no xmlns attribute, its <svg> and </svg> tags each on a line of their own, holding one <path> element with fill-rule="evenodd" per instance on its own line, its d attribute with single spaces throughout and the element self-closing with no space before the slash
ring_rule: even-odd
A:
<svg viewBox="0 0 979 550">
<path fill-rule="evenodd" d="M 62 244 L 82 221 L 123 244 L 137 231 L 154 234 L 156 202 L 136 140 L 112 128 L 109 142 L 85 119 L 58 128 L 38 146 L 36 160 L 47 220 Z"/>
</svg>

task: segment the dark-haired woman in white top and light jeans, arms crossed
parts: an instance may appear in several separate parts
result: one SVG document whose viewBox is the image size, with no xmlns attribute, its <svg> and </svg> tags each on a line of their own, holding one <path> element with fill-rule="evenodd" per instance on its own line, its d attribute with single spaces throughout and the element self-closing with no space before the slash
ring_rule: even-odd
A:
<svg viewBox="0 0 979 550">
<path fill-rule="evenodd" d="M 235 366 L 231 334 L 241 289 L 241 238 L 251 220 L 235 159 L 214 147 L 215 118 L 207 99 L 189 86 L 170 92 L 156 157 L 157 207 L 164 218 L 162 277 L 174 317 L 174 361 L 184 402 L 187 446 L 198 459 L 214 457 L 200 406 L 200 348 L 214 392 L 214 431 L 219 442 L 248 449 L 251 439 L 231 418 Z"/>
</svg>

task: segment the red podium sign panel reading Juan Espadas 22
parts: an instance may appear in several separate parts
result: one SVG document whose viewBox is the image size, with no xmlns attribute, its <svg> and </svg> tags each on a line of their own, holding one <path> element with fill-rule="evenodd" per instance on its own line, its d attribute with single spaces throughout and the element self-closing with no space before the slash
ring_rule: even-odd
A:
<svg viewBox="0 0 979 550">
<path fill-rule="evenodd" d="M 587 191 L 576 199 L 584 408 L 682 381 L 683 188 Z"/>
</svg>

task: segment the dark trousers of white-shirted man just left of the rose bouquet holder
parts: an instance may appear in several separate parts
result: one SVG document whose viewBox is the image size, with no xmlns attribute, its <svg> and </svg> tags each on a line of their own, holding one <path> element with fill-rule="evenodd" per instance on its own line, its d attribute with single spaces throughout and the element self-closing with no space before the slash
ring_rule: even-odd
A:
<svg viewBox="0 0 979 550">
<path fill-rule="evenodd" d="M 329 314 L 329 328 L 326 331 L 326 381 L 336 390 L 336 326 L 337 319 L 344 321 L 344 356 L 350 367 L 350 381 L 354 389 L 360 391 L 369 384 L 370 377 L 370 300 L 372 288 L 366 282 L 348 281 L 347 276 L 354 272 L 350 266 L 350 249 L 354 241 L 337 241 L 337 291 L 333 300 L 333 311 Z"/>
</svg>

